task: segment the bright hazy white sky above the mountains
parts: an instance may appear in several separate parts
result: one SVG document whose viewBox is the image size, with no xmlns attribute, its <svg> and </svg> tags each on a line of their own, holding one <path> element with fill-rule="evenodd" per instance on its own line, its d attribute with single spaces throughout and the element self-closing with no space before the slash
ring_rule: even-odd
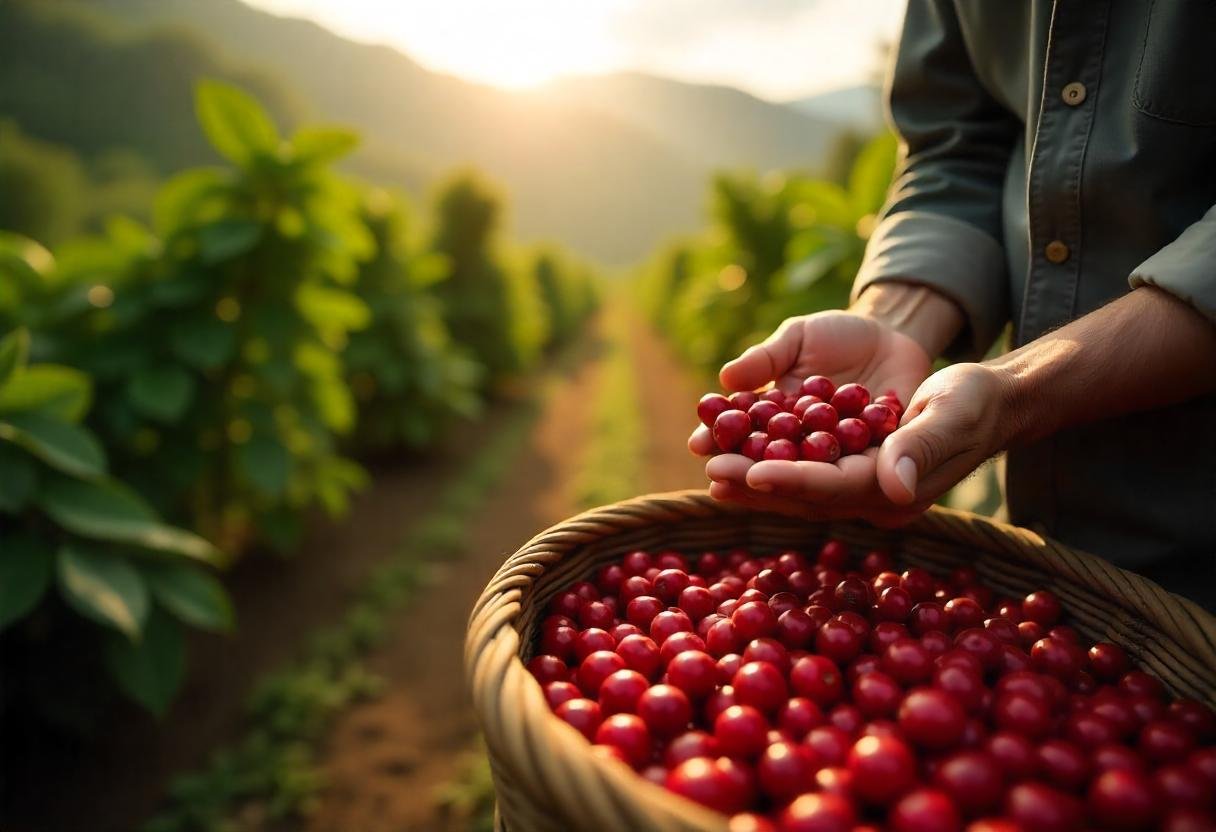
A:
<svg viewBox="0 0 1216 832">
<path fill-rule="evenodd" d="M 499 86 L 642 69 L 792 99 L 876 75 L 902 0 L 246 0 Z"/>
</svg>

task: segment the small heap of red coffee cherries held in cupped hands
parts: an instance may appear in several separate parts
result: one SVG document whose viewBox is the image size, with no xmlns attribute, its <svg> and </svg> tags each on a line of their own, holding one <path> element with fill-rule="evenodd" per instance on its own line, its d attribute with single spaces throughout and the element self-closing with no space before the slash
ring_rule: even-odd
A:
<svg viewBox="0 0 1216 832">
<path fill-rule="evenodd" d="M 798 394 L 773 388 L 764 393 L 706 393 L 697 417 L 725 454 L 760 460 L 835 462 L 883 444 L 900 423 L 903 405 L 894 393 L 869 400 L 861 384 L 837 387 L 811 376 Z"/>
</svg>

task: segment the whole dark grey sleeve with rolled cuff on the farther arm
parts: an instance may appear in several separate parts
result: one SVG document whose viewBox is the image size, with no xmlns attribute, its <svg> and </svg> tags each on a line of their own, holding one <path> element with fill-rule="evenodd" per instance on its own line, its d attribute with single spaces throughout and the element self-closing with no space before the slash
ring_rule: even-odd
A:
<svg viewBox="0 0 1216 832">
<path fill-rule="evenodd" d="M 1001 199 L 1018 118 L 975 74 L 950 0 L 911 0 L 888 80 L 903 158 L 854 282 L 914 282 L 955 300 L 967 331 L 950 350 L 979 358 L 1009 316 Z"/>
</svg>

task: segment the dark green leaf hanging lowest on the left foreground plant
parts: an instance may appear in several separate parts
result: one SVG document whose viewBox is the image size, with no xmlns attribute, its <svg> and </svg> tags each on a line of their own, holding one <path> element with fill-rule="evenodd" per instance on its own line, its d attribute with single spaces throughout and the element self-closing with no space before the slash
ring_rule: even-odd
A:
<svg viewBox="0 0 1216 832">
<path fill-rule="evenodd" d="M 137 642 L 106 640 L 106 669 L 135 702 L 163 716 L 186 675 L 186 643 L 178 622 L 153 609 Z"/>
</svg>

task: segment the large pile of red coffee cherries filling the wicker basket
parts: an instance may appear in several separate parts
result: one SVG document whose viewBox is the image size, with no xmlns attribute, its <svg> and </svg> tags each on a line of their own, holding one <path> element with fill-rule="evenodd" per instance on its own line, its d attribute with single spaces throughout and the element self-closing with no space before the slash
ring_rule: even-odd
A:
<svg viewBox="0 0 1216 832">
<path fill-rule="evenodd" d="M 1216 715 L 1060 618 L 839 541 L 635 551 L 553 598 L 528 668 L 732 832 L 1216 830 Z"/>
</svg>

